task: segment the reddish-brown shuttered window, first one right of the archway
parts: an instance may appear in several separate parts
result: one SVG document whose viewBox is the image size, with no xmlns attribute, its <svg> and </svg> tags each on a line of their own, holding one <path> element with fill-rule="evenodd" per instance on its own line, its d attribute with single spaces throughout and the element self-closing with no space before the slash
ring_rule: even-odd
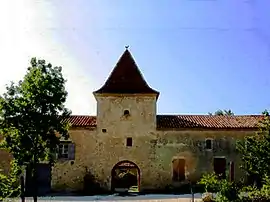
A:
<svg viewBox="0 0 270 202">
<path fill-rule="evenodd" d="M 181 182 L 185 180 L 185 159 L 174 159 L 172 161 L 173 164 L 173 177 L 172 180 L 174 182 Z"/>
</svg>

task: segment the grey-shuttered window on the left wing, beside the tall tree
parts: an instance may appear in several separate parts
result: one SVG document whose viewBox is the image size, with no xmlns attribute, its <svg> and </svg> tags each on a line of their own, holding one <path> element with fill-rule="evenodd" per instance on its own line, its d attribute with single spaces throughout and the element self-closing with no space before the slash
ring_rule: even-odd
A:
<svg viewBox="0 0 270 202">
<path fill-rule="evenodd" d="M 58 159 L 75 159 L 75 144 L 70 142 L 64 142 L 59 145 Z"/>
</svg>

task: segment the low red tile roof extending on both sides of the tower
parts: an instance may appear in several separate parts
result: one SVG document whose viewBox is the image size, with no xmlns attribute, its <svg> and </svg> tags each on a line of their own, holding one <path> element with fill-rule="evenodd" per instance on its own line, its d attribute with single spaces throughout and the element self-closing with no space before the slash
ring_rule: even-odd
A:
<svg viewBox="0 0 270 202">
<path fill-rule="evenodd" d="M 262 115 L 157 115 L 157 129 L 255 129 Z M 67 121 L 73 127 L 96 127 L 95 116 L 72 115 Z"/>
</svg>

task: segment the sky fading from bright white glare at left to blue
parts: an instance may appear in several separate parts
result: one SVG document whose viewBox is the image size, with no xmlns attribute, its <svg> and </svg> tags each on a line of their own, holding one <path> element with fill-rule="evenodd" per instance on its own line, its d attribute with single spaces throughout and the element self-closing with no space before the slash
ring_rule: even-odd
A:
<svg viewBox="0 0 270 202">
<path fill-rule="evenodd" d="M 269 0 L 1 0 L 0 94 L 31 57 L 62 66 L 67 107 L 95 115 L 101 87 L 129 45 L 160 92 L 159 114 L 270 106 Z"/>
</svg>

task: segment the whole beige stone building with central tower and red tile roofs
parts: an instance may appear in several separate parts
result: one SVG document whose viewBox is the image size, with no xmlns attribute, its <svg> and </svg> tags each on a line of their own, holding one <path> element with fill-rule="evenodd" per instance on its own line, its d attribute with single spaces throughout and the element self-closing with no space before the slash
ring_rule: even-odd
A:
<svg viewBox="0 0 270 202">
<path fill-rule="evenodd" d="M 159 92 L 147 84 L 129 50 L 93 94 L 97 115 L 67 120 L 70 140 L 61 144 L 52 170 L 42 171 L 47 177 L 41 179 L 51 176 L 44 187 L 81 190 L 89 172 L 108 190 L 140 191 L 197 181 L 205 172 L 242 176 L 236 140 L 254 134 L 261 116 L 157 115 Z"/>
</svg>

